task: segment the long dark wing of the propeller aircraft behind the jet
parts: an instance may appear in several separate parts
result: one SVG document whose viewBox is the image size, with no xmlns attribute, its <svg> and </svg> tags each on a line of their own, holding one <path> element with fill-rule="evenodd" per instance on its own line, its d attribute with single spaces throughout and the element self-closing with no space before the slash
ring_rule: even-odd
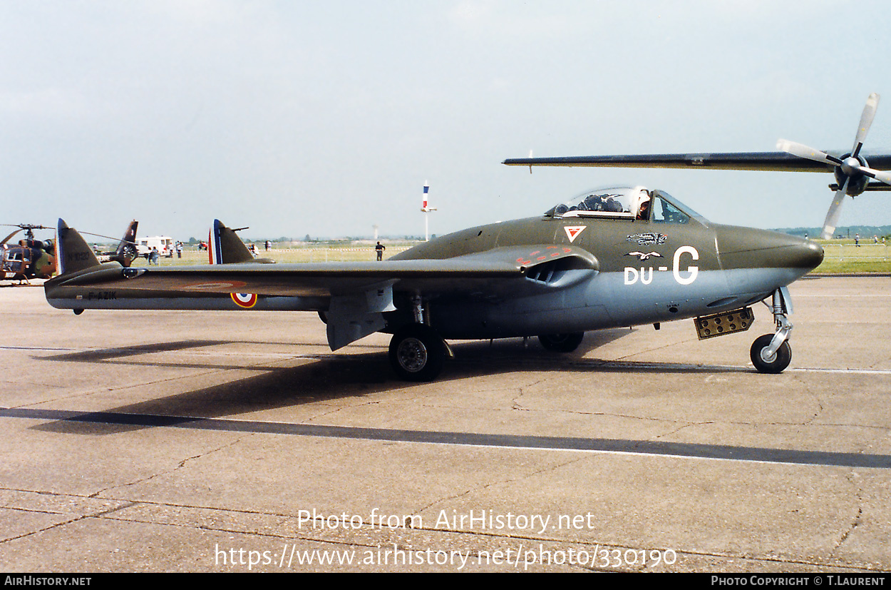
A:
<svg viewBox="0 0 891 590">
<path fill-rule="evenodd" d="M 833 153 L 833 152 L 829 152 Z M 836 154 L 837 157 L 841 154 Z M 871 168 L 891 168 L 889 154 L 863 154 Z M 617 156 L 511 158 L 507 166 L 588 166 L 602 168 L 712 168 L 715 170 L 775 170 L 832 172 L 831 164 L 807 160 L 788 152 L 654 153 Z"/>
</svg>

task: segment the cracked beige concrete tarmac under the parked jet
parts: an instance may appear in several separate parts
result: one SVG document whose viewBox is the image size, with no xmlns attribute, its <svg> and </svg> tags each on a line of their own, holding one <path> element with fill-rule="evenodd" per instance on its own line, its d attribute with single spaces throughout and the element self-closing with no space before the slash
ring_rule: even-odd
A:
<svg viewBox="0 0 891 590">
<path fill-rule="evenodd" d="M 790 288 L 792 364 L 690 320 L 453 342 L 0 288 L 0 570 L 891 570 L 891 278 Z"/>
</svg>

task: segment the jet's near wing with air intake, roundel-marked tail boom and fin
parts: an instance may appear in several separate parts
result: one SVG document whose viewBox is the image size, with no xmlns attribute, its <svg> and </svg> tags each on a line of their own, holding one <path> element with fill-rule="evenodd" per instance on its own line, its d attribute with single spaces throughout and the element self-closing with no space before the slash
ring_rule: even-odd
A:
<svg viewBox="0 0 891 590">
<path fill-rule="evenodd" d="M 323 311 L 337 349 L 386 326 L 395 303 L 421 296 L 507 298 L 562 289 L 599 270 L 574 246 L 524 245 L 442 259 L 124 268 L 100 264 L 59 220 L 61 275 L 44 283 L 53 307 Z M 405 307 L 403 307 L 405 309 Z"/>
</svg>

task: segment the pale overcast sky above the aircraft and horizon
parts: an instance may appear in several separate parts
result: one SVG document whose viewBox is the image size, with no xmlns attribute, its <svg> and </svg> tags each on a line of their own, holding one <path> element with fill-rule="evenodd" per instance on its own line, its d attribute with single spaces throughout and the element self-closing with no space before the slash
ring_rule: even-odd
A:
<svg viewBox="0 0 891 590">
<path fill-rule="evenodd" d="M 831 176 L 505 158 L 891 148 L 891 4 L 0 0 L 0 223 L 185 240 L 436 234 L 594 186 L 817 226 Z M 891 224 L 887 193 L 840 225 Z"/>
</svg>

